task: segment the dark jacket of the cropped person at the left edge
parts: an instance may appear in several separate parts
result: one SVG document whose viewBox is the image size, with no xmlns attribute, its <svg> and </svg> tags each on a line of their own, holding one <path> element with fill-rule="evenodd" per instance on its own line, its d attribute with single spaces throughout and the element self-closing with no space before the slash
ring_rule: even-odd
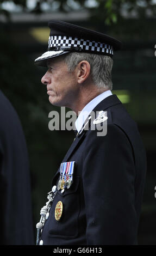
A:
<svg viewBox="0 0 156 256">
<path fill-rule="evenodd" d="M 0 244 L 34 243 L 28 153 L 18 115 L 0 91 Z"/>
</svg>

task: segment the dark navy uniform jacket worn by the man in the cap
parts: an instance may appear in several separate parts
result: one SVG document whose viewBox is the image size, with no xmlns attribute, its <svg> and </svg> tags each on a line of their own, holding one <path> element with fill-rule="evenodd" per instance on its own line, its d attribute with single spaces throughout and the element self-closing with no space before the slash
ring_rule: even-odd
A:
<svg viewBox="0 0 156 256">
<path fill-rule="evenodd" d="M 135 122 L 116 95 L 94 111 L 107 111 L 107 135 L 88 130 L 62 162 L 75 161 L 73 184 L 57 192 L 41 233 L 43 245 L 136 245 L 146 176 L 146 154 Z M 60 172 L 52 182 L 58 184 Z M 55 220 L 55 206 L 63 214 Z"/>
</svg>

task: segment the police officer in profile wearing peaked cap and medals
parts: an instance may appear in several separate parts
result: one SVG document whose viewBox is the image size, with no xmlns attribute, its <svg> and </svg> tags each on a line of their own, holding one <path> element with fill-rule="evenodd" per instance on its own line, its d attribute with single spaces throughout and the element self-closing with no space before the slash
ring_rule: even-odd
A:
<svg viewBox="0 0 156 256">
<path fill-rule="evenodd" d="M 41 81 L 49 101 L 78 115 L 78 133 L 41 209 L 37 244 L 136 245 L 146 154 L 135 122 L 111 93 L 121 42 L 62 21 L 48 26 L 48 51 L 35 63 L 48 67 Z"/>
</svg>

